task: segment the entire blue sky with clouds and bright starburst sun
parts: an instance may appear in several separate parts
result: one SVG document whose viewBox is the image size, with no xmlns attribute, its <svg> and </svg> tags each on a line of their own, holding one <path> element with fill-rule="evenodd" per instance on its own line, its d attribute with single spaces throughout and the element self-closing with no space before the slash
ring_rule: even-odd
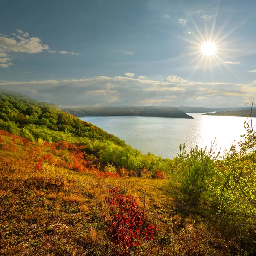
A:
<svg viewBox="0 0 256 256">
<path fill-rule="evenodd" d="M 0 87 L 60 107 L 244 106 L 256 0 L 1 0 Z"/>
</svg>

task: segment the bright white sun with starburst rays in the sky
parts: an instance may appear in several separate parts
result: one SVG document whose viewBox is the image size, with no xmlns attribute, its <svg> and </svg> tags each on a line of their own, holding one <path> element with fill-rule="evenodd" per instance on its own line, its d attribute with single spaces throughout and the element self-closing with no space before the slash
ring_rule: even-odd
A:
<svg viewBox="0 0 256 256">
<path fill-rule="evenodd" d="M 227 69 L 233 74 L 233 76 L 237 77 L 237 75 L 233 72 L 233 70 L 231 70 L 230 66 L 227 65 L 225 61 L 233 59 L 234 55 L 232 55 L 232 52 L 239 51 L 239 49 L 231 49 L 231 42 L 233 43 L 233 41 L 227 41 L 227 36 L 243 25 L 250 17 L 247 20 L 243 20 L 233 29 L 223 33 L 228 22 L 224 22 L 216 31 L 215 27 L 218 17 L 218 9 L 219 4 L 216 8 L 215 14 L 212 15 L 212 17 L 214 17 L 211 20 L 212 22 L 210 20 L 204 20 L 203 29 L 198 27 L 192 16 L 189 17 L 193 23 L 193 26 L 190 28 L 187 27 L 189 37 L 183 39 L 190 44 L 190 47 L 189 52 L 187 52 L 187 54 L 183 54 L 183 57 L 192 57 L 192 59 L 186 63 L 187 66 L 192 67 L 190 76 L 193 75 L 196 70 L 200 69 L 204 69 L 204 71 L 209 70 L 210 75 L 212 76 L 213 68 L 218 67 L 221 73 Z M 209 22 L 211 22 L 210 26 Z M 224 69 L 222 67 L 224 67 Z"/>
</svg>

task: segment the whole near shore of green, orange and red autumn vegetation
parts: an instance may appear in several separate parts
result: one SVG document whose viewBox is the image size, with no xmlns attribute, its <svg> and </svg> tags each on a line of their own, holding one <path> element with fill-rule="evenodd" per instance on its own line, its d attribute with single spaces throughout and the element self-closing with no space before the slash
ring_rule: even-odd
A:
<svg viewBox="0 0 256 256">
<path fill-rule="evenodd" d="M 1 255 L 255 255 L 256 138 L 143 155 L 0 91 Z"/>
</svg>

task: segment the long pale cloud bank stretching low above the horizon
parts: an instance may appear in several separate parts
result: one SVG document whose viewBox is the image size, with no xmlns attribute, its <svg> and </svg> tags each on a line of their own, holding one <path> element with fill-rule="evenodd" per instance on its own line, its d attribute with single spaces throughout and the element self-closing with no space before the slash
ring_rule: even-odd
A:
<svg viewBox="0 0 256 256">
<path fill-rule="evenodd" d="M 188 81 L 171 75 L 165 81 L 94 76 L 88 79 L 0 82 L 0 87 L 53 102 L 79 106 L 237 106 L 251 96 L 245 84 Z"/>
</svg>

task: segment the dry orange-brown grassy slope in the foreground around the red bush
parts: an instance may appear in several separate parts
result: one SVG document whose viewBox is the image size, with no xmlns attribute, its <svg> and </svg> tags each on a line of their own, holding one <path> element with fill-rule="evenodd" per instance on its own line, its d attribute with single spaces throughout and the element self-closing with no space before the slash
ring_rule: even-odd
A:
<svg viewBox="0 0 256 256">
<path fill-rule="evenodd" d="M 175 180 L 95 178 L 56 166 L 35 172 L 22 162 L 24 152 L 22 143 L 16 152 L 0 149 L 1 255 L 111 255 L 104 203 L 110 186 L 137 197 L 141 209 L 145 195 L 146 222 L 159 231 L 143 241 L 140 255 L 239 255 L 245 246 L 211 216 L 188 212 Z"/>
</svg>

